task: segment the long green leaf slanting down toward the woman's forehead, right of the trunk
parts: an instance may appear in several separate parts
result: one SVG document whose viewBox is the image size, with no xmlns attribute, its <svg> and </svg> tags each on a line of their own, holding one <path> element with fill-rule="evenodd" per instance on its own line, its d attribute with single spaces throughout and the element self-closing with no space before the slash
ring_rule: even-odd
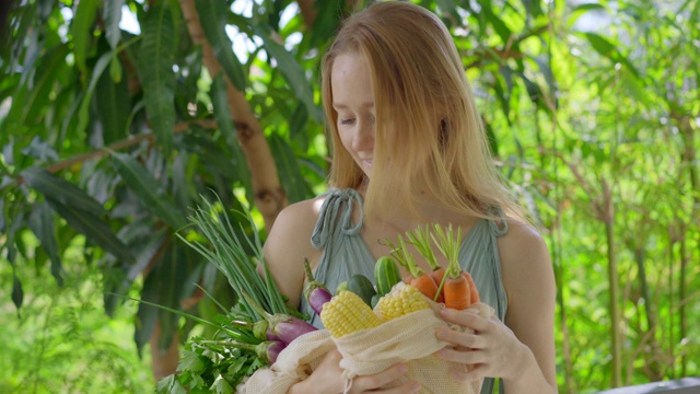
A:
<svg viewBox="0 0 700 394">
<path fill-rule="evenodd" d="M 282 72 L 296 97 L 306 106 L 306 112 L 316 121 L 320 121 L 323 115 L 314 103 L 311 84 L 306 80 L 304 70 L 299 61 L 289 50 L 272 39 L 271 30 L 268 26 L 258 25 L 255 31 L 262 38 L 262 46 L 267 54 L 277 61 L 277 69 Z"/>
</svg>

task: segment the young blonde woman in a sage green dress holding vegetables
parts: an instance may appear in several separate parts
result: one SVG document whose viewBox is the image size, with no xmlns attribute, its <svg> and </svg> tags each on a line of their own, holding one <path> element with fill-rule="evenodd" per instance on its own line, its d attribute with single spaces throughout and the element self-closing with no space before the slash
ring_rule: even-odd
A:
<svg viewBox="0 0 700 394">
<path fill-rule="evenodd" d="M 439 357 L 475 367 L 451 379 L 486 376 L 483 393 L 492 392 L 491 378 L 500 378 L 506 393 L 557 392 L 549 253 L 494 171 L 448 31 L 419 5 L 375 3 L 346 22 L 322 72 L 330 188 L 285 208 L 265 244 L 289 304 L 313 315 L 302 297 L 305 258 L 332 290 L 352 274 L 373 278 L 375 260 L 390 252 L 384 240 L 424 223 L 451 223 L 466 234 L 463 269 L 495 310 L 491 320 L 445 310 L 445 320 L 475 331 L 435 333 L 454 344 Z M 322 326 L 318 316 L 313 323 Z M 339 361 L 339 352 L 330 352 L 290 393 L 341 393 Z M 405 372 L 398 364 L 355 378 L 352 393 L 418 392 L 417 382 L 381 389 Z"/>
</svg>

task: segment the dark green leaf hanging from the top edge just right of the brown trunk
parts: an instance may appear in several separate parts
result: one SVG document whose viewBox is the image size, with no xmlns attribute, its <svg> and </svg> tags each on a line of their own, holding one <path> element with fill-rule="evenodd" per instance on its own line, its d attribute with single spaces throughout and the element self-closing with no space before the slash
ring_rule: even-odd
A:
<svg viewBox="0 0 700 394">
<path fill-rule="evenodd" d="M 233 44 L 226 34 L 228 15 L 231 13 L 224 0 L 197 0 L 195 1 L 201 30 L 211 45 L 214 56 L 221 63 L 221 68 L 229 80 L 241 92 L 245 91 L 246 74 L 241 60 L 233 53 Z"/>
</svg>

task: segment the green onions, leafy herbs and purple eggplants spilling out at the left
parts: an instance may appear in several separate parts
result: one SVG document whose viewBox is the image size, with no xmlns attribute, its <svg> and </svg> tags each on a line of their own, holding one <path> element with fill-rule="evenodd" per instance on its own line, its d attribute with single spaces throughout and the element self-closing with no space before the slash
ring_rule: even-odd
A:
<svg viewBox="0 0 700 394">
<path fill-rule="evenodd" d="M 206 242 L 178 234 L 226 277 L 236 299 L 230 310 L 214 300 L 221 313 L 212 321 L 171 310 L 215 328 L 215 333 L 210 338 L 188 340 L 178 373 L 162 379 L 158 383 L 159 393 L 233 393 L 236 385 L 258 369 L 275 363 L 294 339 L 316 331 L 298 311 L 285 305 L 265 263 L 250 212 L 240 213 L 253 229 L 252 236 L 245 235 L 242 223 L 234 227 L 225 212 L 207 200 L 189 218 Z M 264 275 L 257 271 L 258 263 Z"/>
</svg>

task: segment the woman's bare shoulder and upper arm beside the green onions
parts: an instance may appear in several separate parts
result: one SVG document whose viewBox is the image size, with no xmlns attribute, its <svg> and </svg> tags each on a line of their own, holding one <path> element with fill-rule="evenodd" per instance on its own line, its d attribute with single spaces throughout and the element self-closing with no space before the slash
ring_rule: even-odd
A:
<svg viewBox="0 0 700 394">
<path fill-rule="evenodd" d="M 292 204 L 277 216 L 264 245 L 265 262 L 289 305 L 299 306 L 304 286 L 304 259 L 315 266 L 320 251 L 311 245 L 323 199 Z"/>
</svg>

